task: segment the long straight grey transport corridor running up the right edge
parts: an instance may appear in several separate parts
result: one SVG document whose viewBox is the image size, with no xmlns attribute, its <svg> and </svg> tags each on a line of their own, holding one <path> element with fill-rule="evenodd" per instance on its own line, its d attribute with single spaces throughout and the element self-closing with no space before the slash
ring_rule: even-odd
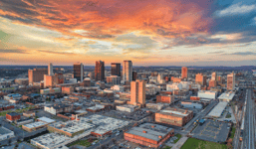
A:
<svg viewBox="0 0 256 149">
<path fill-rule="evenodd" d="M 246 91 L 246 113 L 243 133 L 243 149 L 255 149 L 255 128 L 254 128 L 254 100 L 252 99 L 252 90 Z"/>
</svg>

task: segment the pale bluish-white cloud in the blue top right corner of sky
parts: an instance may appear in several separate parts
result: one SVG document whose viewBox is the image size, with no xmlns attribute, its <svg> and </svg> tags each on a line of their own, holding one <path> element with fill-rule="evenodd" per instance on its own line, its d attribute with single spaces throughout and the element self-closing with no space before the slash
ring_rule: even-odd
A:
<svg viewBox="0 0 256 149">
<path fill-rule="evenodd" d="M 231 5 L 223 10 L 216 11 L 216 15 L 218 17 L 226 17 L 226 16 L 235 16 L 235 15 L 245 15 L 251 12 L 256 11 L 256 5 L 243 5 L 242 3 L 237 3 Z"/>
</svg>

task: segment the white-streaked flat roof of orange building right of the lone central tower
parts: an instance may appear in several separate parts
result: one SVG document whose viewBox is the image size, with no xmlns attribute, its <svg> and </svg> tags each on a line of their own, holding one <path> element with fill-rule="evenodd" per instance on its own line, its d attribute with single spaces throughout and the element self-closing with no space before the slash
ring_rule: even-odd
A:
<svg viewBox="0 0 256 149">
<path fill-rule="evenodd" d="M 158 112 L 158 113 L 169 114 L 169 115 L 173 115 L 173 116 L 177 116 L 177 117 L 184 117 L 184 116 L 187 116 L 188 114 L 190 114 L 191 112 L 192 112 L 192 110 L 167 107 L 165 109 L 160 110 L 160 112 Z"/>
</svg>

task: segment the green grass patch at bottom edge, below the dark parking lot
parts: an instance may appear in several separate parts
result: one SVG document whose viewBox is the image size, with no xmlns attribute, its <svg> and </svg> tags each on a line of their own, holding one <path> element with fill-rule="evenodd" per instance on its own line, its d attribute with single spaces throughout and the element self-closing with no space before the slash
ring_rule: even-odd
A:
<svg viewBox="0 0 256 149">
<path fill-rule="evenodd" d="M 188 138 L 180 149 L 227 149 L 225 144 Z"/>
</svg>

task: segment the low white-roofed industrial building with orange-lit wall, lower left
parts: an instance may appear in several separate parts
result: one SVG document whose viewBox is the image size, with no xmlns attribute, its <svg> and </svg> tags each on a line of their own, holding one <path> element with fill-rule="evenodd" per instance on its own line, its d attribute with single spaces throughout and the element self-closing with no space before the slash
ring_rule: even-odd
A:
<svg viewBox="0 0 256 149">
<path fill-rule="evenodd" d="M 64 134 L 69 137 L 74 137 L 77 134 L 83 133 L 95 127 L 89 120 L 81 117 L 80 120 L 71 120 L 67 122 L 56 122 L 48 125 L 48 130 Z"/>
</svg>

